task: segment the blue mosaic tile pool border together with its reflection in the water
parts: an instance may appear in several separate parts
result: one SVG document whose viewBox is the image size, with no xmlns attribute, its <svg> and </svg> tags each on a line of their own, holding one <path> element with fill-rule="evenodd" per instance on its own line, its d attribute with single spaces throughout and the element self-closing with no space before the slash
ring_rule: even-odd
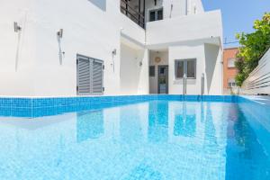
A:
<svg viewBox="0 0 270 180">
<path fill-rule="evenodd" d="M 181 95 L 149 94 L 119 96 L 79 96 L 79 97 L 32 97 L 0 98 L 0 115 L 14 117 L 40 117 L 56 115 L 63 112 L 95 110 L 106 107 L 141 103 L 155 100 L 189 101 L 189 102 L 228 102 L 236 103 L 235 95 Z"/>
</svg>

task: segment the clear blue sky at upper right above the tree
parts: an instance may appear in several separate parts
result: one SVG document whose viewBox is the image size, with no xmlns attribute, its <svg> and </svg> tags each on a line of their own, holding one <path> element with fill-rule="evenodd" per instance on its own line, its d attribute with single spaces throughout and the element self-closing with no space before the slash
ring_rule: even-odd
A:
<svg viewBox="0 0 270 180">
<path fill-rule="evenodd" d="M 253 31 L 253 23 L 270 12 L 270 0 L 202 0 L 205 11 L 220 9 L 223 21 L 223 40 L 236 41 L 237 32 Z M 227 44 L 225 47 L 238 46 Z"/>
</svg>

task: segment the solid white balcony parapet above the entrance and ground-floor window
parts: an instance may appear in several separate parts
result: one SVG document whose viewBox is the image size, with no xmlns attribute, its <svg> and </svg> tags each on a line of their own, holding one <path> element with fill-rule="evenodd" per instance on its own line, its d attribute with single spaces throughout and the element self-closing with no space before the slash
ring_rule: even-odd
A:
<svg viewBox="0 0 270 180">
<path fill-rule="evenodd" d="M 179 16 L 147 23 L 148 46 L 161 46 L 191 40 L 220 45 L 222 21 L 220 11 Z"/>
</svg>

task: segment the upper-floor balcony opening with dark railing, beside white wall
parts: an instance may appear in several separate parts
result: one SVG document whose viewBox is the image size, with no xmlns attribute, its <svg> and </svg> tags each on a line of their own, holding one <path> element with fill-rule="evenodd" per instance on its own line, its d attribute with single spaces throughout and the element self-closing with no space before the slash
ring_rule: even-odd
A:
<svg viewBox="0 0 270 180">
<path fill-rule="evenodd" d="M 145 28 L 145 0 L 121 0 L 121 13 Z"/>
</svg>

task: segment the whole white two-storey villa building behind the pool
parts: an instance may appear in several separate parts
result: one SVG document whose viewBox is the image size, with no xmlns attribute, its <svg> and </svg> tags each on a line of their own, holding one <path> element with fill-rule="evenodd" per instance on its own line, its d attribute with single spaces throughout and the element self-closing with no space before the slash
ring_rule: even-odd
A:
<svg viewBox="0 0 270 180">
<path fill-rule="evenodd" d="M 222 94 L 221 56 L 201 0 L 0 1 L 0 95 Z"/>
</svg>

